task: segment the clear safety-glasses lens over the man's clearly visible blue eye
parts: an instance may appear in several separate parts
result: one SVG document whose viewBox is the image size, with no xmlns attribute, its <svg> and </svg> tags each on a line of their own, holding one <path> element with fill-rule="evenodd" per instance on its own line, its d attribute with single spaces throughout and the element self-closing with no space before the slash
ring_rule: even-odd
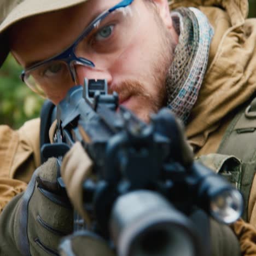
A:
<svg viewBox="0 0 256 256">
<path fill-rule="evenodd" d="M 95 24 L 75 48 L 75 55 L 91 60 L 96 69 L 107 69 L 132 42 L 139 26 L 135 5 L 119 8 Z"/>
</svg>

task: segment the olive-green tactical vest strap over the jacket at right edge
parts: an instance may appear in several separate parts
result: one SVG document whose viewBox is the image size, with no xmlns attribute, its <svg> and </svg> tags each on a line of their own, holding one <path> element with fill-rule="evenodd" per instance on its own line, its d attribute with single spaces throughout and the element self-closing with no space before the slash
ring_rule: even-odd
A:
<svg viewBox="0 0 256 256">
<path fill-rule="evenodd" d="M 218 153 L 234 155 L 242 162 L 240 190 L 245 200 L 243 219 L 248 221 L 248 201 L 256 170 L 256 98 L 231 121 Z M 232 172 L 232 175 L 235 173 Z"/>
</svg>

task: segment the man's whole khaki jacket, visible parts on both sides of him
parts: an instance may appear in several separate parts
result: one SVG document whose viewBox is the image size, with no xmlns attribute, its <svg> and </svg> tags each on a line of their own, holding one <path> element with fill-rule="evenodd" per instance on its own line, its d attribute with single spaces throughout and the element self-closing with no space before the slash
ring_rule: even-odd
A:
<svg viewBox="0 0 256 256">
<path fill-rule="evenodd" d="M 214 5 L 214 7 L 213 7 Z M 173 0 L 170 9 L 194 6 L 203 11 L 214 28 L 205 78 L 186 127 L 197 155 L 217 152 L 234 109 L 256 89 L 256 20 L 246 19 L 246 0 Z M 220 8 L 218 8 L 220 7 Z M 16 194 L 25 190 L 32 172 L 40 164 L 39 119 L 18 131 L 0 126 L 0 211 Z M 254 181 L 249 216 L 256 216 Z M 250 222 L 256 227 L 256 218 Z M 256 254 L 251 226 L 234 226 L 245 255 Z"/>
</svg>

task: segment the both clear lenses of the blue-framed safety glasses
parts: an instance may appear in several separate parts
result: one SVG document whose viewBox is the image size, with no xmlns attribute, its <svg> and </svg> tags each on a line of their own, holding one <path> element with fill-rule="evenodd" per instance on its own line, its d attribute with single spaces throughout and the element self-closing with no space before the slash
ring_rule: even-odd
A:
<svg viewBox="0 0 256 256">
<path fill-rule="evenodd" d="M 95 21 L 87 33 L 74 47 L 76 60 L 68 64 L 64 60 L 46 62 L 26 71 L 24 82 L 43 97 L 57 95 L 58 91 L 67 92 L 75 82 L 72 79 L 73 65 L 83 65 L 84 59 L 92 61 L 95 69 L 107 69 L 120 58 L 135 37 L 139 26 L 139 15 L 134 4 L 118 8 L 103 19 Z M 85 70 L 86 75 L 86 70 Z"/>
</svg>

